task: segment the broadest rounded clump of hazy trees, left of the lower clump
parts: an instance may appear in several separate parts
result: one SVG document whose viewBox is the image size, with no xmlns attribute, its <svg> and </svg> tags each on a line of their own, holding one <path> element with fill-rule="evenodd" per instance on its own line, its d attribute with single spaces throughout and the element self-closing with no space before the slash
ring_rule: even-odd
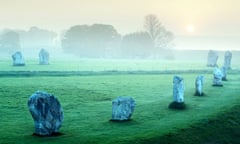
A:
<svg viewBox="0 0 240 144">
<path fill-rule="evenodd" d="M 120 34 L 111 25 L 77 25 L 65 33 L 62 48 L 81 57 L 104 57 L 120 40 Z"/>
</svg>

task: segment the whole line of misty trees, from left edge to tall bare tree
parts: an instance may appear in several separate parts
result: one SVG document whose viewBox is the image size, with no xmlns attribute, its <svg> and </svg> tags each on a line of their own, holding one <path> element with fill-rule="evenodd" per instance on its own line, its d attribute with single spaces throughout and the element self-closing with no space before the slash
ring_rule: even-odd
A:
<svg viewBox="0 0 240 144">
<path fill-rule="evenodd" d="M 52 48 L 57 34 L 32 27 L 29 31 L 7 30 L 0 37 L 0 50 Z M 121 35 L 112 25 L 75 25 L 60 38 L 66 53 L 88 58 L 157 58 L 173 46 L 174 35 L 156 15 L 145 16 L 144 30 Z"/>
</svg>

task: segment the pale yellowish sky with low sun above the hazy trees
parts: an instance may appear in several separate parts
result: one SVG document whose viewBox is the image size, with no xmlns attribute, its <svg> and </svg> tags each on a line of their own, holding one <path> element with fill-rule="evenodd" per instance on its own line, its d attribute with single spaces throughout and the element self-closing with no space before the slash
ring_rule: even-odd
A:
<svg viewBox="0 0 240 144">
<path fill-rule="evenodd" d="M 103 23 L 126 34 L 143 30 L 144 16 L 155 14 L 175 35 L 240 36 L 239 6 L 240 0 L 0 0 L 0 29 Z"/>
</svg>

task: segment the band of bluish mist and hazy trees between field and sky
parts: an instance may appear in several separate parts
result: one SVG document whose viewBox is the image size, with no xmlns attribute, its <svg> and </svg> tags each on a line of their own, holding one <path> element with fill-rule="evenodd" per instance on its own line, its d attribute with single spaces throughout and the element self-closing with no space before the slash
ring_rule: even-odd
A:
<svg viewBox="0 0 240 144">
<path fill-rule="evenodd" d="M 75 25 L 60 33 L 35 26 L 29 30 L 4 29 L 0 33 L 0 55 L 3 59 L 10 59 L 14 52 L 21 51 L 24 57 L 34 59 L 38 57 L 40 49 L 44 48 L 53 59 L 200 61 L 212 49 L 218 51 L 220 57 L 226 50 L 231 50 L 234 55 L 240 54 L 237 37 L 176 36 L 165 29 L 163 31 L 165 35 L 156 44 L 146 30 L 121 35 L 114 26 L 108 24 Z"/>
</svg>

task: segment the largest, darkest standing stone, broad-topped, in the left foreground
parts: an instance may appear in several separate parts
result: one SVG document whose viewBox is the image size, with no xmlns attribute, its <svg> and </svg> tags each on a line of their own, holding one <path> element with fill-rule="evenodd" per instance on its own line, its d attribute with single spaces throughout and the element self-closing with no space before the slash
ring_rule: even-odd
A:
<svg viewBox="0 0 240 144">
<path fill-rule="evenodd" d="M 35 134 L 49 136 L 58 133 L 63 110 L 56 97 L 37 91 L 29 98 L 28 109 L 34 120 Z"/>
</svg>

